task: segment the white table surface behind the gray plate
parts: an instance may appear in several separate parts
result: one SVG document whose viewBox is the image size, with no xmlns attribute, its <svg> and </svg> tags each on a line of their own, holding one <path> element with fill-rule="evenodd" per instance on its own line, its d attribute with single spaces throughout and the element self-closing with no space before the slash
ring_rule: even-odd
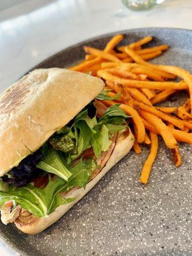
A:
<svg viewBox="0 0 192 256">
<path fill-rule="evenodd" d="M 1 0 L 0 93 L 52 54 L 93 36 L 145 27 L 192 29 L 192 0 L 165 0 L 145 12 L 121 0 Z M 0 248 L 0 255 L 7 256 Z"/>
</svg>

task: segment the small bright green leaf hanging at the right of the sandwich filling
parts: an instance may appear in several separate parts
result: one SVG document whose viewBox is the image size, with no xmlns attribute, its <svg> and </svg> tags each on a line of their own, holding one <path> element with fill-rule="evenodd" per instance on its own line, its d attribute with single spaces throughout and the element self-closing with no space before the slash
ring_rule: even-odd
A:
<svg viewBox="0 0 192 256">
<path fill-rule="evenodd" d="M 106 125 L 102 125 L 100 131 L 93 135 L 91 145 L 96 157 L 99 157 L 102 151 L 108 150 L 111 141 L 109 140 L 109 129 Z"/>
</svg>

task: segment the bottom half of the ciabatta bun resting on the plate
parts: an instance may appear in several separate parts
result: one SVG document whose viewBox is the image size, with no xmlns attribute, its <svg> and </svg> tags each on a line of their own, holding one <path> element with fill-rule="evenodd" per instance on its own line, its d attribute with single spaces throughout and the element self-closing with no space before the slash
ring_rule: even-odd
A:
<svg viewBox="0 0 192 256">
<path fill-rule="evenodd" d="M 86 185 L 85 189 L 72 189 L 72 191 L 70 191 L 68 194 L 69 197 L 75 197 L 76 200 L 70 204 L 60 205 L 47 217 L 36 218 L 33 215 L 26 216 L 26 218 L 28 218 L 26 223 L 25 221 L 22 221 L 21 223 L 20 221 L 16 220 L 15 225 L 17 228 L 19 228 L 24 233 L 35 235 L 45 230 L 45 228 L 51 226 L 54 222 L 59 220 L 61 216 L 63 216 L 74 204 L 83 198 L 83 196 L 86 195 L 86 193 L 88 193 L 88 191 L 90 191 L 90 189 L 92 189 L 93 186 L 95 186 L 95 184 L 97 184 L 97 182 L 99 182 L 99 180 L 131 150 L 133 143 L 134 136 L 132 135 L 130 129 L 127 129 L 127 131 L 119 132 L 113 153 L 109 157 L 106 166 L 104 166 L 100 173 L 97 174 L 97 176 Z M 30 218 L 31 220 L 29 221 Z"/>
</svg>

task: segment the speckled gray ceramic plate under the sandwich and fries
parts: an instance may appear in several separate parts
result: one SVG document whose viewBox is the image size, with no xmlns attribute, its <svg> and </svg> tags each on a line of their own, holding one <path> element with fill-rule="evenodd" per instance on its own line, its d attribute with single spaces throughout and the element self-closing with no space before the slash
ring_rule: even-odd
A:
<svg viewBox="0 0 192 256">
<path fill-rule="evenodd" d="M 148 28 L 122 33 L 125 44 L 154 36 L 151 45 L 170 45 L 170 50 L 154 62 L 192 71 L 192 31 Z M 83 45 L 102 49 L 111 35 L 74 45 L 38 67 L 72 65 L 83 58 Z M 1 243 L 10 255 L 192 255 L 191 146 L 180 145 L 180 152 L 183 164 L 175 168 L 160 140 L 146 187 L 138 180 L 148 149 L 143 148 L 140 156 L 130 152 L 52 227 L 28 236 L 12 225 L 0 224 Z"/>
</svg>

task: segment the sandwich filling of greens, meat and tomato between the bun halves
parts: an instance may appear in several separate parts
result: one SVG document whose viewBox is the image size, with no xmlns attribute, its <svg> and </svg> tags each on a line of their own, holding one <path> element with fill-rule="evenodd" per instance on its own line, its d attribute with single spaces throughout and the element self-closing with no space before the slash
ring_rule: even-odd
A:
<svg viewBox="0 0 192 256">
<path fill-rule="evenodd" d="M 48 216 L 59 205 L 75 200 L 70 191 L 86 188 L 104 168 L 128 118 L 118 105 L 107 108 L 102 104 L 100 100 L 106 97 L 100 93 L 39 150 L 1 177 L 4 224 L 15 221 L 25 225 Z"/>
</svg>

